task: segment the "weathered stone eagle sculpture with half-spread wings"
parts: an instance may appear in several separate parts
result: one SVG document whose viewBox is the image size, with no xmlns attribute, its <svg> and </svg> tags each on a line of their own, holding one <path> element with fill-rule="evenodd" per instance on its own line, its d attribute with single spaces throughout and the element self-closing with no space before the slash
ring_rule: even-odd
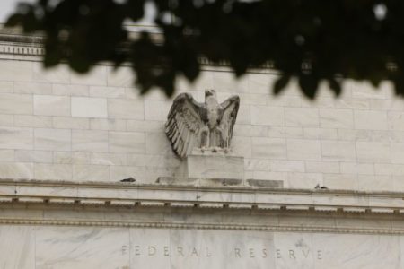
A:
<svg viewBox="0 0 404 269">
<path fill-rule="evenodd" d="M 189 93 L 181 93 L 174 100 L 165 124 L 174 152 L 180 158 L 194 147 L 227 152 L 239 106 L 240 98 L 235 95 L 219 104 L 215 90 L 205 91 L 205 103 L 197 102 Z"/>
</svg>

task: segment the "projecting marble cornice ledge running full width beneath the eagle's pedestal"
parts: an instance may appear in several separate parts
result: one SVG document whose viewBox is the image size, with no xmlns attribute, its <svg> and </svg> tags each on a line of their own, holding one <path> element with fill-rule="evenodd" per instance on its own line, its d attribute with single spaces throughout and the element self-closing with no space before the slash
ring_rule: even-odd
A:
<svg viewBox="0 0 404 269">
<path fill-rule="evenodd" d="M 404 193 L 354 190 L 221 186 L 199 179 L 176 185 L 121 182 L 0 180 L 0 201 L 162 205 L 233 209 L 280 209 L 358 213 L 404 213 Z"/>
</svg>

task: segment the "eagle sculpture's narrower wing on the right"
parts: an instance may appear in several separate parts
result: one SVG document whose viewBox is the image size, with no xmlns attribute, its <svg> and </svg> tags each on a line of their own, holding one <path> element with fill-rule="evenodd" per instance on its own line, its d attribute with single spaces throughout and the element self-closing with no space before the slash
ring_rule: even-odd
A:
<svg viewBox="0 0 404 269">
<path fill-rule="evenodd" d="M 230 146 L 230 141 L 232 140 L 233 127 L 240 107 L 240 98 L 237 95 L 233 95 L 220 105 L 224 109 L 222 120 L 220 122 L 220 126 L 222 127 L 224 133 L 223 146 L 224 148 L 228 148 Z"/>
</svg>

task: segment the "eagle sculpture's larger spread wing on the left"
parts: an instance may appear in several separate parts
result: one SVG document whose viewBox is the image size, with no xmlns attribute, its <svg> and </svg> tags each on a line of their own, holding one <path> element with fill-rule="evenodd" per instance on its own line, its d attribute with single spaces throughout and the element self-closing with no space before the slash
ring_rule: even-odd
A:
<svg viewBox="0 0 404 269">
<path fill-rule="evenodd" d="M 174 152 L 183 158 L 198 142 L 199 130 L 203 127 L 198 103 L 189 93 L 181 93 L 173 101 L 165 124 L 165 134 L 171 141 Z"/>
</svg>

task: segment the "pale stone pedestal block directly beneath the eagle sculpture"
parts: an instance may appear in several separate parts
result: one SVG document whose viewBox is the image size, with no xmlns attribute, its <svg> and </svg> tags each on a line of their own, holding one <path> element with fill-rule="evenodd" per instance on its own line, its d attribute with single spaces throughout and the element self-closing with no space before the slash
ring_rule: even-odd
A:
<svg viewBox="0 0 404 269">
<path fill-rule="evenodd" d="M 180 164 L 176 177 L 243 179 L 244 157 L 232 152 L 212 152 L 194 149 Z"/>
</svg>

